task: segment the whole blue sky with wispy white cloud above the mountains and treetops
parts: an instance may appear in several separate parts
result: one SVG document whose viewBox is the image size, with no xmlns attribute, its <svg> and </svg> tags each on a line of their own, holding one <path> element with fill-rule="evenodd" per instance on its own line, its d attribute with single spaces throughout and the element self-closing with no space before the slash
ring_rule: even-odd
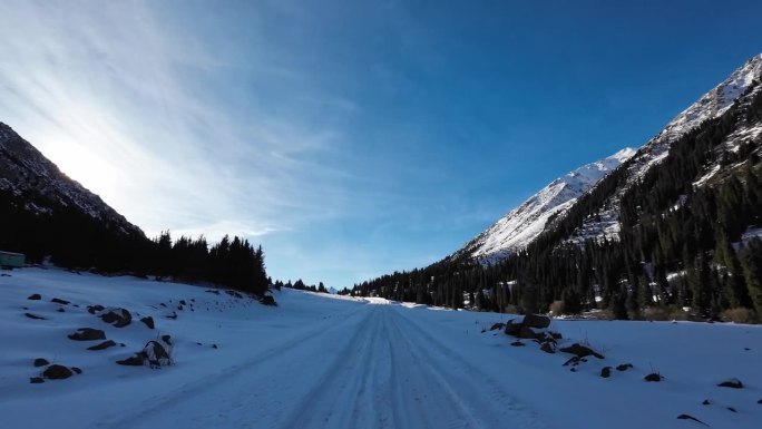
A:
<svg viewBox="0 0 762 429">
<path fill-rule="evenodd" d="M 434 262 L 762 51 L 753 1 L 0 3 L 0 120 L 148 235 Z"/>
</svg>

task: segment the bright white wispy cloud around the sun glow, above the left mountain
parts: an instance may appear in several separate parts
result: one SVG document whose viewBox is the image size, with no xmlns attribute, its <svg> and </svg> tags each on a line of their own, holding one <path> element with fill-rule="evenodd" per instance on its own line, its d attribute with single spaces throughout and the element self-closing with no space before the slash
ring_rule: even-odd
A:
<svg viewBox="0 0 762 429">
<path fill-rule="evenodd" d="M 219 56 L 189 20 L 155 4 L 3 2 L 2 120 L 148 233 L 255 236 L 336 216 L 343 173 L 313 159 L 340 131 L 268 111 L 242 94 L 268 88 L 234 81 L 243 70 L 247 81 L 286 85 L 300 71 Z M 266 43 L 250 49 L 266 62 Z M 335 114 L 356 108 L 300 97 Z"/>
</svg>

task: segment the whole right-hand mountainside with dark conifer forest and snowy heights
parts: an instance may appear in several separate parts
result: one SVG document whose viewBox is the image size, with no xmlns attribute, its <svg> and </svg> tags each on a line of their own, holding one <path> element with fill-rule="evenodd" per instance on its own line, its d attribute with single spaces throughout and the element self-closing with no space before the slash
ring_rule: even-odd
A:
<svg viewBox="0 0 762 429">
<path fill-rule="evenodd" d="M 762 315 L 762 55 L 621 160 L 572 196 L 558 191 L 569 176 L 554 182 L 459 253 L 352 292 L 615 319 Z"/>
</svg>

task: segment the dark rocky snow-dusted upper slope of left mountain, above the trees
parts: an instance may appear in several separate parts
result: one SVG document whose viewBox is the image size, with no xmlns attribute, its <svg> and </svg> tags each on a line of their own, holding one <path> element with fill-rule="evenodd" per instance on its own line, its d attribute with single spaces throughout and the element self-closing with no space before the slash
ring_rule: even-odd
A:
<svg viewBox="0 0 762 429">
<path fill-rule="evenodd" d="M 22 202 L 30 214 L 55 215 L 74 208 L 108 225 L 109 230 L 144 235 L 3 123 L 0 123 L 0 193 Z"/>
</svg>

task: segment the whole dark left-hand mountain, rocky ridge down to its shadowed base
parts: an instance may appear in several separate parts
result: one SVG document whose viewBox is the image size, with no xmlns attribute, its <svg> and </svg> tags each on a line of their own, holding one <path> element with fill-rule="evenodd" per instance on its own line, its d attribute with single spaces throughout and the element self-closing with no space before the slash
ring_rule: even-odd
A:
<svg viewBox="0 0 762 429">
<path fill-rule="evenodd" d="M 135 267 L 150 241 L 0 123 L 0 250 L 68 267 Z"/>
</svg>

